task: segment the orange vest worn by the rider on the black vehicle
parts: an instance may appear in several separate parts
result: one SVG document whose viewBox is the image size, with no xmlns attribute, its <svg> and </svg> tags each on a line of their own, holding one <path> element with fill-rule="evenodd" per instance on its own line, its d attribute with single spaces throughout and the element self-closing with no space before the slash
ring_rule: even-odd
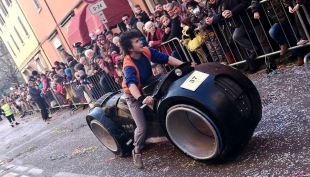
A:
<svg viewBox="0 0 310 177">
<path fill-rule="evenodd" d="M 146 58 L 151 62 L 151 51 L 149 50 L 149 48 L 147 48 L 147 47 L 143 48 L 143 55 L 146 56 Z M 126 55 L 124 57 L 123 72 L 124 72 L 125 67 L 127 67 L 127 66 L 132 66 L 133 68 L 135 68 L 135 70 L 136 70 L 136 77 L 138 79 L 138 85 L 137 86 L 138 86 L 138 89 L 140 90 L 141 87 L 142 87 L 142 85 L 140 84 L 140 73 L 139 73 L 139 70 L 138 70 L 137 66 L 134 64 L 134 62 L 132 61 L 132 59 L 131 59 L 131 57 L 129 55 Z M 131 94 L 129 88 L 126 85 L 125 78 L 123 79 L 122 88 L 123 88 L 125 93 Z"/>
</svg>

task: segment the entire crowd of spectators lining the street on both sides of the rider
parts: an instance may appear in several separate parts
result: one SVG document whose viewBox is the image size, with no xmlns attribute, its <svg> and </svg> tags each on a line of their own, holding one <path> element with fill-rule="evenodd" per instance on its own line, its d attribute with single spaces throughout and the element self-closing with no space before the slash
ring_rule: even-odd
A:
<svg viewBox="0 0 310 177">
<path fill-rule="evenodd" d="M 309 42 L 296 12 L 300 5 L 309 11 L 310 2 L 296 0 L 296 3 L 293 5 L 295 2 L 290 0 L 270 0 L 264 3 L 259 0 L 172 1 L 156 4 L 155 12 L 151 14 L 136 5 L 134 16 L 124 14 L 122 21 L 126 30 L 139 31 L 144 46 L 185 60 L 179 45 L 182 44 L 186 52 L 194 56 L 196 63 L 230 64 L 245 59 L 249 66 L 248 72 L 254 73 L 258 70 L 254 59 L 260 54 L 274 51 L 269 38 L 279 47 L 280 55 L 269 56 L 268 67 L 276 69 L 276 61 L 286 60 L 293 52 L 298 59 L 296 65 L 303 64 L 303 48 L 293 52 L 288 51 L 288 48 Z M 298 30 L 292 28 L 295 25 Z M 255 34 L 256 40 L 252 40 L 251 34 Z M 87 46 L 79 42 L 73 44 L 77 50 L 76 56 L 62 51 L 65 62 L 54 62 L 52 70 L 46 73 L 33 73 L 36 87 L 41 89 L 49 107 L 71 105 L 73 94 L 68 92 L 74 92 L 78 102 L 86 102 L 85 93 L 96 100 L 106 92 L 121 89 L 124 53 L 119 45 L 119 35 L 111 31 L 90 33 L 91 42 Z M 175 38 L 178 40 L 173 41 L 173 45 L 162 45 Z M 152 63 L 153 74 L 165 73 L 165 67 Z M 97 76 L 97 79 L 92 79 L 92 76 Z M 70 88 L 66 88 L 68 83 L 71 84 Z M 51 91 L 53 96 L 49 95 Z M 51 99 L 55 97 L 57 101 Z M 22 117 L 26 114 L 25 110 L 35 106 L 27 85 L 16 86 L 5 101 Z"/>
</svg>

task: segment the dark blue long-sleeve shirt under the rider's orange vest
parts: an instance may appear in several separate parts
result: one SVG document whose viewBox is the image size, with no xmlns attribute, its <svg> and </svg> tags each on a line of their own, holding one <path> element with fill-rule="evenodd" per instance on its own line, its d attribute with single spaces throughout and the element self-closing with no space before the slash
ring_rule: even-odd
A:
<svg viewBox="0 0 310 177">
<path fill-rule="evenodd" d="M 167 54 L 158 52 L 155 49 L 149 48 L 151 52 L 151 61 L 153 63 L 158 63 L 158 64 L 167 64 L 169 56 Z M 150 61 L 147 59 L 146 56 L 143 54 L 141 55 L 141 58 L 139 59 L 134 59 L 132 58 L 133 63 L 136 65 L 136 67 L 139 70 L 140 74 L 140 84 L 144 85 L 144 83 L 152 77 L 152 67 Z M 129 88 L 131 84 L 135 84 L 138 86 L 139 82 L 136 77 L 136 70 L 132 66 L 127 66 L 124 68 L 124 76 L 126 80 L 126 85 Z"/>
</svg>

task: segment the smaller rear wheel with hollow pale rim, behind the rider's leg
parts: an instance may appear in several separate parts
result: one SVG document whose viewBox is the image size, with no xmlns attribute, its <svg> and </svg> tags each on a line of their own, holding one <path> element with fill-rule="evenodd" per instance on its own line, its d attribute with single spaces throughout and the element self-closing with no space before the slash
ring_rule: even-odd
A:
<svg viewBox="0 0 310 177">
<path fill-rule="evenodd" d="M 90 122 L 90 127 L 98 140 L 111 152 L 117 156 L 127 156 L 130 154 L 132 140 L 128 141 L 124 131 L 120 129 L 112 120 L 104 120 L 104 125 L 93 119 Z M 129 145 L 129 146 L 128 146 Z"/>
</svg>

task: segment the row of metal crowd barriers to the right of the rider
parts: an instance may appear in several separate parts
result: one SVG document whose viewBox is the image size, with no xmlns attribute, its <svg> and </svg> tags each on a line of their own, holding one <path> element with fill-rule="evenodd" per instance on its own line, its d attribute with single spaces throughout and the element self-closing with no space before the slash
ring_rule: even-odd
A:
<svg viewBox="0 0 310 177">
<path fill-rule="evenodd" d="M 251 18 L 251 16 L 253 16 L 251 7 L 246 10 L 245 14 L 242 14 L 242 17 L 238 17 L 241 25 L 245 28 L 245 35 L 243 37 L 250 42 L 252 48 L 257 48 L 257 50 L 255 50 L 255 54 L 257 56 L 255 59 L 265 58 L 265 60 L 268 60 L 270 57 L 276 57 L 275 55 L 280 53 L 279 45 L 269 35 L 269 30 L 274 25 L 274 23 L 268 17 L 267 9 L 264 5 L 267 2 L 270 1 L 260 1 L 260 19 L 256 20 Z M 288 10 L 284 7 L 282 2 L 281 9 L 283 12 L 285 12 L 284 15 L 288 20 L 289 27 L 293 31 L 292 35 L 294 35 L 294 40 L 296 41 L 294 44 L 289 42 L 290 40 L 288 40 L 288 34 L 286 34 L 286 31 L 284 30 L 285 32 L 283 34 L 288 44 L 288 51 L 294 51 L 296 49 L 309 46 L 310 42 L 301 46 L 297 46 L 297 42 L 299 41 L 297 37 L 297 30 L 294 25 L 295 23 L 290 18 L 290 16 L 294 14 L 288 14 Z M 271 5 L 271 9 L 268 10 L 275 12 L 275 7 Z M 302 15 L 301 12 L 304 15 Z M 299 17 L 302 28 L 308 40 L 310 41 L 308 32 L 310 30 L 310 17 L 306 7 L 301 6 L 301 8 L 299 8 L 296 13 Z M 275 14 L 275 18 L 279 20 L 279 14 Z M 245 20 L 250 23 L 245 24 Z M 279 24 L 283 30 L 283 24 Z M 220 21 L 217 24 L 211 25 L 211 29 L 198 29 L 196 33 L 203 34 L 203 42 L 201 46 L 197 47 L 197 49 L 194 51 L 189 51 L 186 47 L 184 47 L 178 38 L 164 42 L 155 48 L 163 53 L 177 56 L 176 58 L 182 61 L 194 61 L 196 63 L 227 62 L 230 66 L 239 65 L 245 63 L 248 60 L 250 52 L 233 39 L 233 34 L 236 29 L 235 25 L 236 22 L 234 19 L 228 18 Z"/>
</svg>

